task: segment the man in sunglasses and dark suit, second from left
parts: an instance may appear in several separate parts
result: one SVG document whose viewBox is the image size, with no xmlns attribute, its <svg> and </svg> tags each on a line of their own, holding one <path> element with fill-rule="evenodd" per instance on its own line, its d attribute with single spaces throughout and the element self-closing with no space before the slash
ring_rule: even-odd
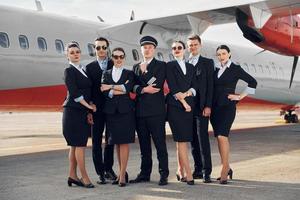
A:
<svg viewBox="0 0 300 200">
<path fill-rule="evenodd" d="M 97 106 L 97 112 L 90 114 L 89 117 L 93 119 L 92 128 L 92 149 L 93 162 L 96 173 L 100 181 L 97 183 L 105 184 L 105 178 L 115 180 L 117 178 L 113 171 L 114 162 L 114 146 L 107 143 L 107 136 L 105 134 L 104 155 L 102 154 L 102 137 L 105 125 L 105 114 L 103 107 L 105 97 L 100 90 L 101 77 L 103 71 L 109 70 L 113 66 L 113 61 L 108 58 L 107 52 L 109 42 L 106 38 L 99 37 L 95 40 L 95 51 L 97 60 L 91 62 L 86 66 L 86 74 L 92 81 L 92 96 L 91 102 Z"/>
</svg>

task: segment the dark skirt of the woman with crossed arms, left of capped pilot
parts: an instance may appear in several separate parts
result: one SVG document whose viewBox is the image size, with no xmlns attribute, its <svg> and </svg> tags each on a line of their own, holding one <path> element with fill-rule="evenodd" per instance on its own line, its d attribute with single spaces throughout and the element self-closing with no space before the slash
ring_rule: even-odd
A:
<svg viewBox="0 0 300 200">
<path fill-rule="evenodd" d="M 129 144 L 135 139 L 134 112 L 106 114 L 108 144 Z"/>
</svg>

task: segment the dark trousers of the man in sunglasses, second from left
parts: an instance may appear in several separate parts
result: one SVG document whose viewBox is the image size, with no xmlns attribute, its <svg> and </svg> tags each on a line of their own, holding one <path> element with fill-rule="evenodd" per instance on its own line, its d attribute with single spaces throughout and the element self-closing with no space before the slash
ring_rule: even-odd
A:
<svg viewBox="0 0 300 200">
<path fill-rule="evenodd" d="M 114 145 L 107 144 L 107 134 L 105 134 L 104 156 L 102 155 L 102 137 L 104 132 L 105 114 L 96 113 L 93 115 L 94 125 L 92 126 L 92 149 L 93 162 L 96 173 L 104 174 L 111 170 L 114 163 Z"/>
</svg>

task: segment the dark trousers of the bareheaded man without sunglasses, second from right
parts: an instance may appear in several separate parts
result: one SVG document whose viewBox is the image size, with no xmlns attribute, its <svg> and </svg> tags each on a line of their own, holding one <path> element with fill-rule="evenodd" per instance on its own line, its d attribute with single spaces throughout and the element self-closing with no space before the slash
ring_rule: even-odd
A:
<svg viewBox="0 0 300 200">
<path fill-rule="evenodd" d="M 195 171 L 201 171 L 205 175 L 210 175 L 212 171 L 208 119 L 204 116 L 194 116 L 191 142 Z"/>
</svg>

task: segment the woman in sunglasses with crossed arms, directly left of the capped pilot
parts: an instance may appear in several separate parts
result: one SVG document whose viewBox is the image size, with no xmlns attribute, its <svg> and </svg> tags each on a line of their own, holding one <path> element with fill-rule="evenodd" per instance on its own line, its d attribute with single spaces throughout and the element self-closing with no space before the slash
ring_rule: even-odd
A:
<svg viewBox="0 0 300 200">
<path fill-rule="evenodd" d="M 119 161 L 119 176 L 113 184 L 124 187 L 128 182 L 129 143 L 134 143 L 135 138 L 134 102 L 129 96 L 134 75 L 124 69 L 125 51 L 122 48 L 112 51 L 112 59 L 113 68 L 102 75 L 101 91 L 106 96 L 103 112 L 106 114 L 108 144 L 116 145 Z"/>
</svg>

